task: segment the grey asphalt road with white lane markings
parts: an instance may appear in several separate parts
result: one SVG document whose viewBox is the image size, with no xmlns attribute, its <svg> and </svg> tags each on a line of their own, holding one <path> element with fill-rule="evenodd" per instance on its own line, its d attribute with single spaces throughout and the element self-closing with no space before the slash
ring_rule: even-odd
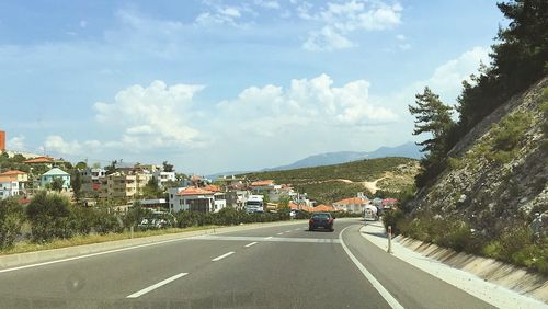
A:
<svg viewBox="0 0 548 309">
<path fill-rule="evenodd" d="M 0 270 L 0 308 L 491 307 L 384 252 L 361 225 L 300 221 Z"/>
</svg>

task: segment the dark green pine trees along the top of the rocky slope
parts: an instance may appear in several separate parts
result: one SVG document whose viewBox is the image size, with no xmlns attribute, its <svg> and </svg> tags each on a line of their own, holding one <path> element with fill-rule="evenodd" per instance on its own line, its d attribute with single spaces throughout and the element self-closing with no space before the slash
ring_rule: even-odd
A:
<svg viewBox="0 0 548 309">
<path fill-rule="evenodd" d="M 432 184 L 447 167 L 447 153 L 475 125 L 513 95 L 548 72 L 548 1 L 514 0 L 496 4 L 506 19 L 490 54 L 471 82 L 463 81 L 455 106 L 444 104 L 429 87 L 415 95 L 409 112 L 415 117 L 413 135 L 427 134 L 420 142 L 424 158 L 416 187 Z M 458 119 L 453 121 L 453 113 Z"/>
</svg>

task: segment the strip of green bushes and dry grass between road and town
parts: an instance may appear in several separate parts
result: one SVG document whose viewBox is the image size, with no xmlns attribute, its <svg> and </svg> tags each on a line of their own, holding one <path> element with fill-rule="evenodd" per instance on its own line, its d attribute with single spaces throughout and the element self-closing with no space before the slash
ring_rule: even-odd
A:
<svg viewBox="0 0 548 309">
<path fill-rule="evenodd" d="M 174 233 L 218 226 L 289 220 L 289 209 L 277 213 L 247 214 L 231 207 L 215 214 L 180 211 L 167 217 L 161 228 L 140 225 L 150 219 L 150 209 L 134 204 L 127 213 L 109 205 L 72 205 L 57 193 L 37 193 L 31 204 L 21 207 L 16 198 L 0 201 L 0 254 L 89 244 L 130 237 Z M 130 232 L 133 228 L 134 232 Z"/>
</svg>

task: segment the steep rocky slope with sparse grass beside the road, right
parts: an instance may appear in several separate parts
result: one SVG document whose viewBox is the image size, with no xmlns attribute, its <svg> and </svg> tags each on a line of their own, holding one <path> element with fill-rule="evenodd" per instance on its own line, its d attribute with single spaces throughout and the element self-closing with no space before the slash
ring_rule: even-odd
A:
<svg viewBox="0 0 548 309">
<path fill-rule="evenodd" d="M 403 232 L 548 273 L 548 78 L 478 123 L 448 162 L 408 204 Z M 447 222 L 449 240 L 436 240 Z"/>
</svg>

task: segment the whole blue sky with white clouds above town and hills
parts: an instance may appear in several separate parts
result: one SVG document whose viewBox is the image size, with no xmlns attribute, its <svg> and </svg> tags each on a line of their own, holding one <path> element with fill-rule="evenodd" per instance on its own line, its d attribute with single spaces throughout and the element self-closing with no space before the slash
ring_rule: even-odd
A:
<svg viewBox="0 0 548 309">
<path fill-rule="evenodd" d="M 496 1 L 0 1 L 8 149 L 209 174 L 410 140 L 489 64 Z"/>
</svg>

